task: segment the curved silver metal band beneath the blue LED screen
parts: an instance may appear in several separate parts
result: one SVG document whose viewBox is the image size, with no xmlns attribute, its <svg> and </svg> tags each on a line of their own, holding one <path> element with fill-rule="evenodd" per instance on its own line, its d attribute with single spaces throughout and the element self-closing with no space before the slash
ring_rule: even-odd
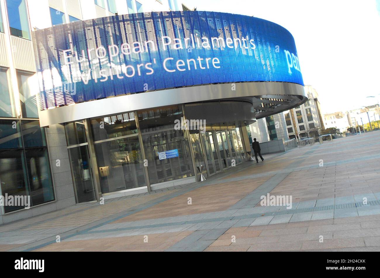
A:
<svg viewBox="0 0 380 278">
<path fill-rule="evenodd" d="M 305 100 L 304 87 L 287 82 L 242 82 L 232 84 L 209 84 L 194 87 L 173 88 L 167 90 L 116 96 L 101 100 L 87 101 L 68 106 L 39 111 L 40 125 L 49 126 L 57 123 L 73 122 L 103 115 L 120 114 L 181 103 L 239 98 L 249 96 L 280 95 L 301 96 L 299 103 Z M 294 104 L 294 107 L 298 103 Z M 292 107 L 284 107 L 285 110 Z M 279 111 L 280 112 L 280 111 Z M 276 114 L 278 112 L 273 112 Z"/>
</svg>

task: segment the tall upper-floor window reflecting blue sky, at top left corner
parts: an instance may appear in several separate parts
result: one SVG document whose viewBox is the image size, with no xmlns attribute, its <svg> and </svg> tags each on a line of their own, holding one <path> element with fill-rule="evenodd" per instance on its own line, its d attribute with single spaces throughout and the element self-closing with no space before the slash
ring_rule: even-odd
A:
<svg viewBox="0 0 380 278">
<path fill-rule="evenodd" d="M 5 2 L 11 35 L 30 39 L 25 0 L 6 0 Z"/>
</svg>

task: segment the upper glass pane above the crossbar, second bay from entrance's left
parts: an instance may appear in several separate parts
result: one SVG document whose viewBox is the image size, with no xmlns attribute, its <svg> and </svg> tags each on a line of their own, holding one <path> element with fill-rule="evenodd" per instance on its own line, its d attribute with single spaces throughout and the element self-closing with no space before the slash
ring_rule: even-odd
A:
<svg viewBox="0 0 380 278">
<path fill-rule="evenodd" d="M 91 120 L 94 141 L 137 134 L 133 112 Z"/>
</svg>

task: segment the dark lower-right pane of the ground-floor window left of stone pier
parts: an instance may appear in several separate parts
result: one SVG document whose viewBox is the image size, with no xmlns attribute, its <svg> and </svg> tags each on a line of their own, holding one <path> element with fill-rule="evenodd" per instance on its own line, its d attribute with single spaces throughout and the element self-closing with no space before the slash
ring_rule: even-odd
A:
<svg viewBox="0 0 380 278">
<path fill-rule="evenodd" d="M 25 150 L 32 205 L 54 200 L 50 165 L 46 148 Z"/>
</svg>

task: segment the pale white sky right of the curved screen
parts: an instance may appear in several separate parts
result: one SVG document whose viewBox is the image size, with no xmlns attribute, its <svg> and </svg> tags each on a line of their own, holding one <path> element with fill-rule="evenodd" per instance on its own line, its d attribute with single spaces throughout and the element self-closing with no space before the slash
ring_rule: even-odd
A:
<svg viewBox="0 0 380 278">
<path fill-rule="evenodd" d="M 293 35 L 323 113 L 380 101 L 380 0 L 183 0 L 198 11 L 266 19 Z M 377 98 L 366 98 L 376 96 Z"/>
</svg>

